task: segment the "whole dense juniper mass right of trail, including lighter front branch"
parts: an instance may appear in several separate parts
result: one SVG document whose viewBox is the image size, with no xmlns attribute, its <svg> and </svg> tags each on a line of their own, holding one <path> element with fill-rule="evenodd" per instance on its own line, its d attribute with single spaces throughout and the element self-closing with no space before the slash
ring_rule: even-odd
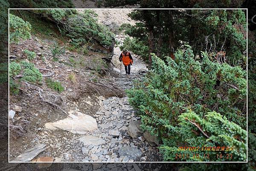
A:
<svg viewBox="0 0 256 171">
<path fill-rule="evenodd" d="M 142 128 L 163 142 L 165 160 L 175 161 L 180 142 L 200 147 L 230 145 L 236 151 L 230 160 L 244 161 L 246 72 L 201 53 L 203 58 L 196 60 L 186 45 L 175 60 L 166 57 L 166 62 L 152 53 L 152 69 L 143 82 L 127 91 L 129 102 L 138 110 Z"/>
</svg>

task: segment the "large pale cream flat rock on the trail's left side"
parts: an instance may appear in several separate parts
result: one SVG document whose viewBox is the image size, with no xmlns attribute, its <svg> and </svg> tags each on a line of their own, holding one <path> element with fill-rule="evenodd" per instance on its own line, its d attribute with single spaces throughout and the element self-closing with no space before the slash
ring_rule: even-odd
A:
<svg viewBox="0 0 256 171">
<path fill-rule="evenodd" d="M 92 116 L 74 110 L 70 110 L 68 113 L 70 117 L 57 122 L 48 122 L 45 124 L 45 128 L 51 130 L 62 129 L 78 134 L 85 134 L 98 128 L 96 119 Z"/>
</svg>

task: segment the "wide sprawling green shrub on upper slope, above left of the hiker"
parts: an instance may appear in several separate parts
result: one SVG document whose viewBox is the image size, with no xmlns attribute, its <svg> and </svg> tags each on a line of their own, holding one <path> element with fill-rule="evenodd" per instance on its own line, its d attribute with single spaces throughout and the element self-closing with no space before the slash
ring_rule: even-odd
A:
<svg viewBox="0 0 256 171">
<path fill-rule="evenodd" d="M 107 26 L 97 23 L 97 14 L 93 10 L 73 12 L 59 9 L 58 11 L 61 11 L 59 13 L 62 14 L 62 17 L 63 12 L 65 13 L 63 20 L 60 20 L 61 17 L 56 18 L 53 14 L 49 14 L 49 16 L 63 24 L 62 32 L 67 33 L 66 35 L 71 38 L 73 46 L 83 46 L 88 41 L 91 41 L 92 38 L 102 45 L 111 45 L 113 32 Z"/>
</svg>

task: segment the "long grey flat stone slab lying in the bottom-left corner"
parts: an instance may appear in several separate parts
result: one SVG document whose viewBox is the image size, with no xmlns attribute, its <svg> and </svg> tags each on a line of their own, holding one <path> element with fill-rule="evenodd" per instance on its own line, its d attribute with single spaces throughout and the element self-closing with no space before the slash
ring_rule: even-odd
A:
<svg viewBox="0 0 256 171">
<path fill-rule="evenodd" d="M 34 159 L 39 153 L 46 149 L 45 144 L 37 144 L 33 148 L 29 148 L 24 153 L 20 154 L 19 156 L 15 157 L 12 162 L 30 162 Z"/>
</svg>

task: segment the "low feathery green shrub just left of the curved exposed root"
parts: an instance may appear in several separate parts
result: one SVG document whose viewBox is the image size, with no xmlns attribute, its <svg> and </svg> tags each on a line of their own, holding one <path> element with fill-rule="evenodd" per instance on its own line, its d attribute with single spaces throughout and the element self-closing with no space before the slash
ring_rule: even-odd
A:
<svg viewBox="0 0 256 171">
<path fill-rule="evenodd" d="M 23 77 L 21 78 L 22 81 L 41 83 L 43 79 L 42 74 L 37 68 L 35 68 L 34 64 L 22 61 L 21 65 L 24 67 L 22 72 Z"/>
</svg>

